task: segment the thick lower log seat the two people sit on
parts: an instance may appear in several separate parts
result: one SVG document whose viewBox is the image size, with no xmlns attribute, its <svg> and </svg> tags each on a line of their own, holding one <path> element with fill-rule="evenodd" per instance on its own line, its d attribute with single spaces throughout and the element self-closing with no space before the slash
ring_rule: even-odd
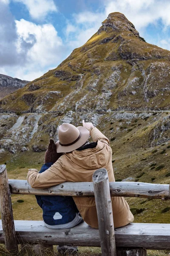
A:
<svg viewBox="0 0 170 256">
<path fill-rule="evenodd" d="M 99 230 L 81 223 L 67 230 L 52 230 L 43 221 L 14 221 L 18 242 L 100 247 Z M 115 230 L 117 247 L 170 250 L 170 224 L 132 223 Z M 0 243 L 4 243 L 0 220 Z"/>
</svg>

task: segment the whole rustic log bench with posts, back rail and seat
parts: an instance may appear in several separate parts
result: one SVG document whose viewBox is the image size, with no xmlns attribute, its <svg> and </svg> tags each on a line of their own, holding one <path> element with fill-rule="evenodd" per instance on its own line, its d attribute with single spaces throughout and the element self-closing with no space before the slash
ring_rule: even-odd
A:
<svg viewBox="0 0 170 256">
<path fill-rule="evenodd" d="M 60 245 L 63 242 L 65 245 L 101 246 L 102 256 L 116 256 L 116 247 L 125 248 L 125 250 L 118 249 L 117 256 L 145 256 L 145 249 L 170 250 L 170 224 L 132 223 L 114 230 L 113 213 L 110 204 L 111 196 L 170 199 L 170 188 L 167 184 L 109 183 L 107 171 L 99 169 L 93 175 L 93 182 L 66 182 L 49 189 L 33 189 L 26 180 L 8 180 L 6 166 L 3 165 L 0 166 L 0 185 L 1 216 L 3 222 L 2 224 L 0 221 L 0 243 L 5 243 L 6 247 L 10 250 L 17 251 L 17 245 L 11 247 L 11 243 L 42 243 L 50 246 L 51 244 Z M 86 223 L 79 224 L 71 229 L 51 230 L 45 227 L 43 221 L 13 222 L 10 190 L 8 187 L 10 187 L 12 194 L 80 197 L 95 195 L 99 230 L 89 227 Z M 100 205 L 105 210 L 101 211 Z M 130 249 L 127 249 L 127 247 L 130 247 Z M 141 249 L 143 247 L 145 249 Z M 135 254 L 133 249 L 136 250 Z M 132 251 L 133 253 L 130 254 Z"/>
</svg>

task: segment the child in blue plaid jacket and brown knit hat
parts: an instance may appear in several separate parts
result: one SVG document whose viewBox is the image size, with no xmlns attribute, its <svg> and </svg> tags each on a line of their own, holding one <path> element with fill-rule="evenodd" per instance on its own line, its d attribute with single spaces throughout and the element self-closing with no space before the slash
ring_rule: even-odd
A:
<svg viewBox="0 0 170 256">
<path fill-rule="evenodd" d="M 45 152 L 45 163 L 39 173 L 45 172 L 60 156 L 62 156 L 62 153 L 57 153 L 54 140 L 50 139 L 48 149 Z M 48 228 L 66 229 L 74 227 L 83 221 L 73 198 L 70 196 L 36 195 L 36 199 L 38 205 L 42 208 L 42 217 L 45 226 Z M 71 252 L 71 254 L 78 252 L 77 247 L 65 245 L 58 246 L 57 249 L 61 255 L 66 251 Z"/>
</svg>

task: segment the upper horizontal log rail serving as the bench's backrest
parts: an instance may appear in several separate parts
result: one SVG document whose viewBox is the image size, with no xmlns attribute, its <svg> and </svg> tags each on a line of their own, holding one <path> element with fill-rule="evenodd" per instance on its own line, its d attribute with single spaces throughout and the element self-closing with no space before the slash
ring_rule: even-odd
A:
<svg viewBox="0 0 170 256">
<path fill-rule="evenodd" d="M 8 181 L 12 194 L 94 196 L 92 182 L 65 182 L 49 189 L 32 189 L 26 180 Z M 169 184 L 152 184 L 143 182 L 110 182 L 111 196 L 170 199 Z"/>
</svg>

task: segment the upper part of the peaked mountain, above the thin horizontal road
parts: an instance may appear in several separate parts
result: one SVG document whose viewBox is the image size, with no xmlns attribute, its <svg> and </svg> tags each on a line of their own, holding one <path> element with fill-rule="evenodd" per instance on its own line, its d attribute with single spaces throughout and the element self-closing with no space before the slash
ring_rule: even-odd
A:
<svg viewBox="0 0 170 256">
<path fill-rule="evenodd" d="M 169 64 L 168 50 L 146 43 L 124 15 L 112 13 L 56 69 L 2 99 L 0 111 L 166 111 Z"/>
</svg>

